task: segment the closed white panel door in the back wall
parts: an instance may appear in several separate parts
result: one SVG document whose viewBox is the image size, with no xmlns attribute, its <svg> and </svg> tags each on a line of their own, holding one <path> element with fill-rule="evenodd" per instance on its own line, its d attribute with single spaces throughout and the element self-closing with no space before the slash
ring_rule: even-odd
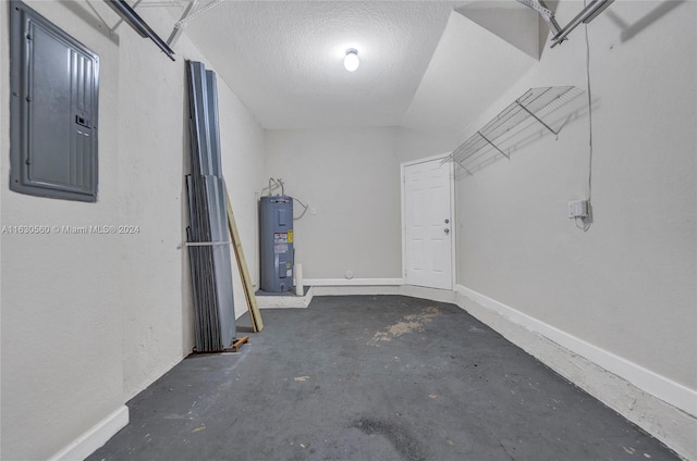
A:
<svg viewBox="0 0 697 461">
<path fill-rule="evenodd" d="M 452 162 L 402 165 L 404 276 L 407 285 L 453 287 Z"/>
</svg>

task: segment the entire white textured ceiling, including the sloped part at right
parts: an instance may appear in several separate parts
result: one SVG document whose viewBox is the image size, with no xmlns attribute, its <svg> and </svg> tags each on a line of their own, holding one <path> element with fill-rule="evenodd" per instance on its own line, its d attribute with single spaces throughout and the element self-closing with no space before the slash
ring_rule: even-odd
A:
<svg viewBox="0 0 697 461">
<path fill-rule="evenodd" d="M 227 0 L 185 32 L 265 128 L 458 132 L 531 65 L 536 16 L 514 0 Z"/>
</svg>

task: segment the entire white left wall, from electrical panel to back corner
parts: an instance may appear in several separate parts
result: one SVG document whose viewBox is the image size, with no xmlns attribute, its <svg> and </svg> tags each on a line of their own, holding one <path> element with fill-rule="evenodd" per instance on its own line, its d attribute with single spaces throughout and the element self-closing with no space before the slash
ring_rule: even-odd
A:
<svg viewBox="0 0 697 461">
<path fill-rule="evenodd" d="M 2 40 L 1 225 L 131 224 L 136 235 L 2 235 L 2 459 L 47 459 L 122 408 L 193 345 L 184 237 L 186 37 L 171 62 L 127 26 L 115 41 L 85 2 L 29 4 L 100 55 L 97 203 L 9 190 L 9 48 Z M 94 3 L 112 24 L 115 15 Z M 0 35 L 8 37 L 7 3 Z M 160 34 L 172 20 L 140 11 Z M 250 265 L 262 130 L 218 80 L 223 170 Z M 240 203 L 237 203 L 237 201 Z M 236 276 L 236 270 L 233 270 Z M 239 277 L 235 278 L 237 288 Z M 246 311 L 241 289 L 237 314 Z M 30 435 L 30 436 L 29 436 Z"/>
</svg>

